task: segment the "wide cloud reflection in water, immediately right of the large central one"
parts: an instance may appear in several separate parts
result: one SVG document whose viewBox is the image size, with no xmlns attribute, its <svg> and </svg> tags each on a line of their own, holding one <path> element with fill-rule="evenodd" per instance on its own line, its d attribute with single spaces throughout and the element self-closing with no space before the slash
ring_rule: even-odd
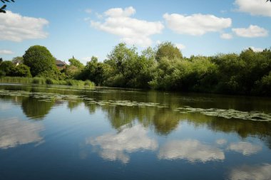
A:
<svg viewBox="0 0 271 180">
<path fill-rule="evenodd" d="M 188 159 L 189 162 L 208 162 L 225 159 L 224 152 L 198 140 L 170 141 L 160 148 L 159 159 Z"/>
</svg>

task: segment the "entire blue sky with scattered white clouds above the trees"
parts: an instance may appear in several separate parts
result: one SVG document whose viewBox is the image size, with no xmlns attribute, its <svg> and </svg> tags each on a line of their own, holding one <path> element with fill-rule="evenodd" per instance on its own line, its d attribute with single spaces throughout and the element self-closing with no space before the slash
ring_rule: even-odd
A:
<svg viewBox="0 0 271 180">
<path fill-rule="evenodd" d="M 121 42 L 140 52 L 170 41 L 185 57 L 271 47 L 266 0 L 15 0 L 7 10 L 0 14 L 4 60 L 34 45 L 82 63 L 103 61 Z"/>
</svg>

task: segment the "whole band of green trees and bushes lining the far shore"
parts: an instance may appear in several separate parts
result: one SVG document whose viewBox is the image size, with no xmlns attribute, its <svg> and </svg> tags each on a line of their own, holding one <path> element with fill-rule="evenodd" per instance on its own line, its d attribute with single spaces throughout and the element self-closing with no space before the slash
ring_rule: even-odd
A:
<svg viewBox="0 0 271 180">
<path fill-rule="evenodd" d="M 23 63 L 15 65 L 17 61 Z M 96 85 L 119 88 L 271 95 L 270 49 L 255 52 L 249 48 L 240 54 L 185 58 L 170 42 L 141 53 L 135 47 L 119 43 L 103 62 L 96 57 L 86 65 L 76 58 L 68 61 L 70 65 L 58 70 L 55 58 L 45 47 L 31 46 L 23 58 L 16 57 L 13 63 L 3 61 L 0 76 L 44 78 L 46 84 L 89 80 Z"/>
</svg>

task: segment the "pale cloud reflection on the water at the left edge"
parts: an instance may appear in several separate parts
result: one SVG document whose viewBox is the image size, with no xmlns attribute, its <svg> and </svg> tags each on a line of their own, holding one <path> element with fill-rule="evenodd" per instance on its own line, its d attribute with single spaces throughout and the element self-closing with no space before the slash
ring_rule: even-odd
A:
<svg viewBox="0 0 271 180">
<path fill-rule="evenodd" d="M 42 142 L 39 132 L 44 127 L 17 119 L 0 120 L 0 148 L 6 149 L 31 142 Z"/>
</svg>

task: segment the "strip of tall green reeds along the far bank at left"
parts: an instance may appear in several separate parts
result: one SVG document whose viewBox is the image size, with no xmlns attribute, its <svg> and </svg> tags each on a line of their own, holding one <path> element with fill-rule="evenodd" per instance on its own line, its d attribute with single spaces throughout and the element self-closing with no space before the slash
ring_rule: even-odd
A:
<svg viewBox="0 0 271 180">
<path fill-rule="evenodd" d="M 90 80 L 53 80 L 50 78 L 22 78 L 22 77 L 1 77 L 0 83 L 20 83 L 36 85 L 71 85 L 79 87 L 94 87 Z"/>
</svg>

